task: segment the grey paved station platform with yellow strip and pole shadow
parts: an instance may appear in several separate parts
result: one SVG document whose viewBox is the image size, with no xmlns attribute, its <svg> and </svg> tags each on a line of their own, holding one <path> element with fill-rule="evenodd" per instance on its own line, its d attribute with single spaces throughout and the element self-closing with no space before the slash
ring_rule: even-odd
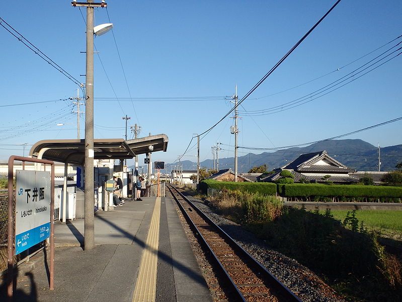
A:
<svg viewBox="0 0 402 302">
<path fill-rule="evenodd" d="M 14 301 L 212 301 L 175 201 L 142 199 L 96 212 L 90 251 L 82 248 L 84 219 L 56 221 L 54 290 L 49 252 L 41 251 L 18 266 Z"/>
</svg>

